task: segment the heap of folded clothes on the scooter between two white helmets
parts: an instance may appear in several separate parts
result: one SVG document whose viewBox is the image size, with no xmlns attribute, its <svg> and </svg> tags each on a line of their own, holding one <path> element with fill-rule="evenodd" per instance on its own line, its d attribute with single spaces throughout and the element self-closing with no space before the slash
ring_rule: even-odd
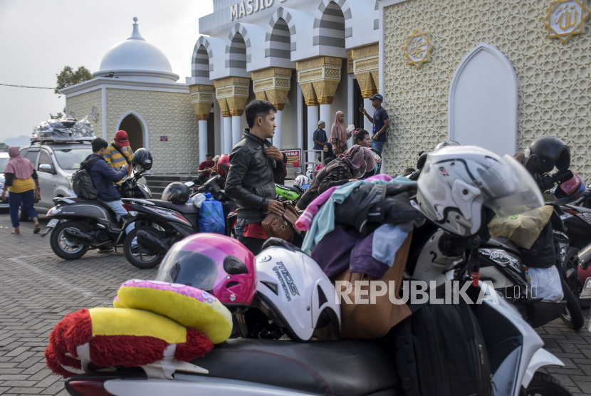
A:
<svg viewBox="0 0 591 396">
<path fill-rule="evenodd" d="M 410 203 L 416 194 L 416 182 L 386 174 L 330 188 L 295 223 L 308 230 L 302 250 L 329 278 L 346 269 L 382 278 L 415 222 L 424 221 Z"/>
</svg>

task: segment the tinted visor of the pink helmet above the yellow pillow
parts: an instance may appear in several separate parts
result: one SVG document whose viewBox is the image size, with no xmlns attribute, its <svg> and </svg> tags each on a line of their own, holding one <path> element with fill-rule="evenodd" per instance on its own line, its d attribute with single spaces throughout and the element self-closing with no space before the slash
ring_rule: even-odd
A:
<svg viewBox="0 0 591 396">
<path fill-rule="evenodd" d="M 217 264 L 211 257 L 197 251 L 171 249 L 162 260 L 156 280 L 212 291 L 216 276 Z"/>
</svg>

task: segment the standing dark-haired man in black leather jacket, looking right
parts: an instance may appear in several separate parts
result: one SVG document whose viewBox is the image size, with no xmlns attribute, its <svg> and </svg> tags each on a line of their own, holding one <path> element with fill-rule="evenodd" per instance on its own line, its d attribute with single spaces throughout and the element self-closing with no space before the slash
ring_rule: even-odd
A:
<svg viewBox="0 0 591 396">
<path fill-rule="evenodd" d="M 238 240 L 258 254 L 267 239 L 261 223 L 269 212 L 283 214 L 275 183 L 283 177 L 287 157 L 267 140 L 275 135 L 275 106 L 254 100 L 244 112 L 249 128 L 230 153 L 226 195 L 236 200 Z"/>
</svg>

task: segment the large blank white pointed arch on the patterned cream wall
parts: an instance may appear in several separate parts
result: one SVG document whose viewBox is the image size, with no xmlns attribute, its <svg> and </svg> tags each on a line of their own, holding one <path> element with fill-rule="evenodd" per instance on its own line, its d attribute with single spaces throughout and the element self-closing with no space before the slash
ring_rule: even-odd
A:
<svg viewBox="0 0 591 396">
<path fill-rule="evenodd" d="M 449 137 L 498 155 L 517 151 L 518 80 L 511 61 L 480 43 L 462 59 L 451 79 Z"/>
</svg>

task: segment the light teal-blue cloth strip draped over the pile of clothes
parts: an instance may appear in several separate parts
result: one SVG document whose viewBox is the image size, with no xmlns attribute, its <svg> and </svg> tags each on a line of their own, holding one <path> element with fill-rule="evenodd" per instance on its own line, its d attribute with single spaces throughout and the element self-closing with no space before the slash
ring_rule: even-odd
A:
<svg viewBox="0 0 591 396">
<path fill-rule="evenodd" d="M 394 177 L 390 182 L 384 182 L 383 180 L 359 180 L 358 182 L 343 184 L 338 189 L 335 189 L 333 194 L 330 195 L 328 200 L 318 210 L 318 213 L 312 219 L 310 229 L 306 232 L 305 238 L 302 244 L 302 250 L 308 256 L 312 253 L 312 250 L 320 242 L 323 237 L 330 231 L 335 229 L 335 204 L 342 204 L 342 202 L 349 197 L 349 194 L 359 187 L 361 184 L 387 184 L 387 183 L 416 183 L 407 179 L 406 177 Z"/>
</svg>

